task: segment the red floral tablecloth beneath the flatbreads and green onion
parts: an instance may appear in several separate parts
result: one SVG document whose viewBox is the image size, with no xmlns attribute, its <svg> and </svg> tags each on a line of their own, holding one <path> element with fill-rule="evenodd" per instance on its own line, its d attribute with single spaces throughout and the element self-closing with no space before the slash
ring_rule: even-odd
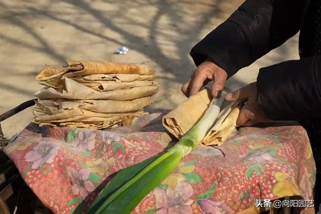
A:
<svg viewBox="0 0 321 214">
<path fill-rule="evenodd" d="M 169 148 L 166 112 L 108 131 L 31 123 L 5 148 L 21 175 L 55 213 L 86 213 L 121 169 Z M 196 147 L 132 211 L 144 214 L 235 213 L 297 195 L 312 200 L 315 164 L 305 130 L 295 125 L 240 128 L 219 147 Z M 311 207 L 301 213 L 313 213 Z"/>
</svg>

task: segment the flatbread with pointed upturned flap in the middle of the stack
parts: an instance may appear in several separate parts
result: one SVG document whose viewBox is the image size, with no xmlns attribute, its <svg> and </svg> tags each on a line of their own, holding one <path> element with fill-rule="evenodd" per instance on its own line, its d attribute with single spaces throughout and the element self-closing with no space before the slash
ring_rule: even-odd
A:
<svg viewBox="0 0 321 214">
<path fill-rule="evenodd" d="M 63 87 L 54 89 L 45 87 L 35 93 L 41 99 L 71 99 L 71 100 L 133 100 L 148 97 L 159 91 L 159 85 L 141 86 L 114 91 L 95 91 L 67 77 L 62 77 Z"/>
</svg>

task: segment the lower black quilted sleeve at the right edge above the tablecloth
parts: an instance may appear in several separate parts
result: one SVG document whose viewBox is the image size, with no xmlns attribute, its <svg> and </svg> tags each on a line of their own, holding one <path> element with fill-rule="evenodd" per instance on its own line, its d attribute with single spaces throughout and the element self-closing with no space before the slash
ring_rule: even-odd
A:
<svg viewBox="0 0 321 214">
<path fill-rule="evenodd" d="M 321 117 L 321 55 L 261 68 L 257 102 L 273 120 Z"/>
</svg>

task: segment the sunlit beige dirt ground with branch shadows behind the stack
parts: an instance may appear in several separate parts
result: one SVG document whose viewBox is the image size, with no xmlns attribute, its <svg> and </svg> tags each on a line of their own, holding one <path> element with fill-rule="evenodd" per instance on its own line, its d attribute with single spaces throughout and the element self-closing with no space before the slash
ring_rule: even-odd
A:
<svg viewBox="0 0 321 214">
<path fill-rule="evenodd" d="M 35 98 L 46 64 L 70 60 L 153 62 L 162 90 L 151 108 L 184 101 L 182 84 L 195 65 L 189 52 L 241 4 L 240 0 L 0 0 L 0 113 Z M 127 55 L 113 51 L 125 46 Z M 258 69 L 297 59 L 297 36 L 228 80 L 232 91 L 256 80 Z M 30 109 L 2 122 L 7 137 L 32 118 Z"/>
</svg>

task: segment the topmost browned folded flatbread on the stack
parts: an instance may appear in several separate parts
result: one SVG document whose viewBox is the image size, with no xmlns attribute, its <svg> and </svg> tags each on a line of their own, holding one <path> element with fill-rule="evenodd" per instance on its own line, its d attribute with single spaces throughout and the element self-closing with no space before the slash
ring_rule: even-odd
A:
<svg viewBox="0 0 321 214">
<path fill-rule="evenodd" d="M 138 74 L 152 75 L 154 66 L 149 63 L 130 64 L 102 61 L 73 61 L 67 60 L 67 66 L 46 66 L 36 79 L 50 80 L 59 76 L 75 77 L 91 74 Z"/>
</svg>

